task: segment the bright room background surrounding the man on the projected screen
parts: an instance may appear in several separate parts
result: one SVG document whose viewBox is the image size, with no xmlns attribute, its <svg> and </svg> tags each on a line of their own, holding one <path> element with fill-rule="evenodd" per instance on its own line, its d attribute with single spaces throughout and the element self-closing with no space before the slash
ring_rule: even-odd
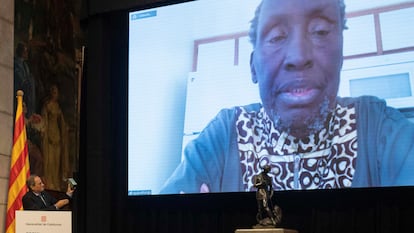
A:
<svg viewBox="0 0 414 233">
<path fill-rule="evenodd" d="M 259 2 L 201 0 L 129 13 L 129 195 L 160 194 L 187 143 L 220 109 L 260 102 L 248 39 Z M 345 4 L 339 95 L 375 95 L 414 112 L 414 24 L 407 23 L 414 1 Z"/>
</svg>

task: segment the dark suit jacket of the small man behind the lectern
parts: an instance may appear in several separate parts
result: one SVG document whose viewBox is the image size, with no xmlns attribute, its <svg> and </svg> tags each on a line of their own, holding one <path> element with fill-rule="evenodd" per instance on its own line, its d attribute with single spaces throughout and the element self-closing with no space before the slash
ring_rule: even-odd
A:
<svg viewBox="0 0 414 233">
<path fill-rule="evenodd" d="M 57 202 L 56 198 L 50 195 L 47 192 L 42 192 L 40 195 L 43 196 L 43 199 L 46 202 L 43 203 L 40 196 L 37 196 L 32 191 L 27 192 L 23 198 L 23 209 L 24 210 L 56 210 L 54 204 Z"/>
</svg>

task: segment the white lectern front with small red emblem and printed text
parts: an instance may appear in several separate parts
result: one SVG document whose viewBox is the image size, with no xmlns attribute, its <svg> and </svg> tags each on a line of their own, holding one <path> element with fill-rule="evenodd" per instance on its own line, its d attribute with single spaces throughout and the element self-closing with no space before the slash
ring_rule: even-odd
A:
<svg viewBox="0 0 414 233">
<path fill-rule="evenodd" d="M 16 233 L 72 233 L 71 211 L 16 211 Z"/>
</svg>

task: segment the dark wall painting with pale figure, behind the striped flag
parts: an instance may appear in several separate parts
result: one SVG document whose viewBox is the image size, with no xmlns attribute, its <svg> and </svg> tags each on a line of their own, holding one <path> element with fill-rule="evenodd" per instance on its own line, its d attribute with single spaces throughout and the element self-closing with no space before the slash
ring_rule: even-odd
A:
<svg viewBox="0 0 414 233">
<path fill-rule="evenodd" d="M 15 2 L 14 88 L 24 91 L 31 174 L 65 191 L 78 171 L 81 0 Z"/>
</svg>

